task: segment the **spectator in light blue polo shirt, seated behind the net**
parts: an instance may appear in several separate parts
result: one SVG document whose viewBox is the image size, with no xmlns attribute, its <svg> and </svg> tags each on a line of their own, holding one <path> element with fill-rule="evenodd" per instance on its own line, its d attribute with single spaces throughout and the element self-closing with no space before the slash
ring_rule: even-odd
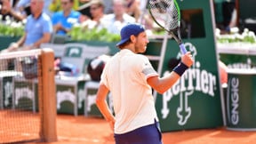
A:
<svg viewBox="0 0 256 144">
<path fill-rule="evenodd" d="M 31 15 L 27 18 L 25 34 L 20 37 L 17 43 L 10 44 L 4 52 L 20 50 L 30 50 L 39 48 L 40 44 L 49 43 L 52 33 L 52 21 L 50 17 L 43 12 L 44 0 L 31 0 Z M 21 48 L 22 47 L 22 48 Z"/>
</svg>

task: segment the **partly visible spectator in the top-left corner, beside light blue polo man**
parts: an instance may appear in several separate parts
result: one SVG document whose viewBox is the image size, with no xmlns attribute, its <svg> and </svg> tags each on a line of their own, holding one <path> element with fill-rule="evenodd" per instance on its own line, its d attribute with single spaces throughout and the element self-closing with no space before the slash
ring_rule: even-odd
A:
<svg viewBox="0 0 256 144">
<path fill-rule="evenodd" d="M 2 20 L 6 20 L 7 17 L 10 17 L 13 20 L 21 21 L 26 18 L 26 16 L 21 15 L 20 12 L 15 12 L 12 8 L 10 0 L 1 0 L 0 4 L 0 14 L 3 16 Z"/>
</svg>

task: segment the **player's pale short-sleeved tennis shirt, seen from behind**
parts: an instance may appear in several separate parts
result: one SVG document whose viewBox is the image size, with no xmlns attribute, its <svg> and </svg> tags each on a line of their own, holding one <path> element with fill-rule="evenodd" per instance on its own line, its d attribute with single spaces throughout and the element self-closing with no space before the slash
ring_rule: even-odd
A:
<svg viewBox="0 0 256 144">
<path fill-rule="evenodd" d="M 151 76 L 158 74 L 148 58 L 130 50 L 121 50 L 108 61 L 100 83 L 108 87 L 113 97 L 116 134 L 158 121 L 152 89 L 147 84 Z"/>
</svg>

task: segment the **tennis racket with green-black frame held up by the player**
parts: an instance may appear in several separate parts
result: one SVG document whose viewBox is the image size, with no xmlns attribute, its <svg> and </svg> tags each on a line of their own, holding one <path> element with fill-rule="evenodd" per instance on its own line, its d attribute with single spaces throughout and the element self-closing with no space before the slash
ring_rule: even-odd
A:
<svg viewBox="0 0 256 144">
<path fill-rule="evenodd" d="M 180 52 L 187 52 L 180 36 L 180 7 L 176 0 L 149 0 L 148 11 L 160 28 L 164 28 L 180 46 Z"/>
</svg>

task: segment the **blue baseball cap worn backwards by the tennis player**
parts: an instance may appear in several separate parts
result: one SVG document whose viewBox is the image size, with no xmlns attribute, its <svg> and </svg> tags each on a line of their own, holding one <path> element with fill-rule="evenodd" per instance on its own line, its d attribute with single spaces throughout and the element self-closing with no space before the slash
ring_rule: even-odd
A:
<svg viewBox="0 0 256 144">
<path fill-rule="evenodd" d="M 121 29 L 121 32 L 120 32 L 121 41 L 117 43 L 116 46 L 124 44 L 130 39 L 132 35 L 138 36 L 143 31 L 145 31 L 145 28 L 140 24 L 137 24 L 137 23 L 127 24 Z"/>
</svg>

